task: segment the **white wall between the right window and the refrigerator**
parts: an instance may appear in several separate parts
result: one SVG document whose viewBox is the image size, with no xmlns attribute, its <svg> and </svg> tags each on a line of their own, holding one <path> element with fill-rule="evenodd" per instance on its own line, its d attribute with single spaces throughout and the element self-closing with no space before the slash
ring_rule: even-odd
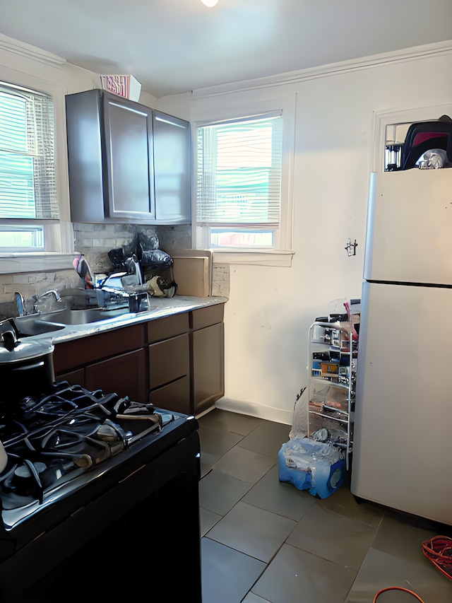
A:
<svg viewBox="0 0 452 603">
<path fill-rule="evenodd" d="M 281 78 L 281 93 L 297 93 L 295 255 L 290 268 L 230 266 L 225 399 L 218 406 L 292 423 L 295 397 L 307 385 L 309 324 L 331 300 L 361 297 L 373 112 L 452 103 L 451 47 L 424 54 L 388 55 L 327 76 L 301 73 L 290 84 Z M 249 100 L 275 95 L 275 86 L 252 86 Z M 243 92 L 203 92 L 189 98 L 197 119 L 200 107 L 210 117 L 225 99 L 244 101 Z M 173 110 L 176 100 L 170 98 Z M 355 257 L 345 251 L 349 238 L 357 240 Z"/>
</svg>

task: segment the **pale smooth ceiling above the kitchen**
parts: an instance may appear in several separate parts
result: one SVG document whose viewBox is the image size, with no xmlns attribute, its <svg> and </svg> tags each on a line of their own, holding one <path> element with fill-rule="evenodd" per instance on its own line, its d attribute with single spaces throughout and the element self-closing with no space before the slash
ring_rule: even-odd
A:
<svg viewBox="0 0 452 603">
<path fill-rule="evenodd" d="M 0 33 L 157 98 L 452 39 L 451 0 L 0 0 Z"/>
</svg>

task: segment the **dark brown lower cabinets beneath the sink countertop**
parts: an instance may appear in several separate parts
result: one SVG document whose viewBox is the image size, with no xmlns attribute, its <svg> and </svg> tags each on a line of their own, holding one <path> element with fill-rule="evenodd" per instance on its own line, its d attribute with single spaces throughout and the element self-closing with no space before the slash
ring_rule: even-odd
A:
<svg viewBox="0 0 452 603">
<path fill-rule="evenodd" d="M 56 344 L 56 381 L 200 414 L 225 393 L 224 305 Z"/>
</svg>

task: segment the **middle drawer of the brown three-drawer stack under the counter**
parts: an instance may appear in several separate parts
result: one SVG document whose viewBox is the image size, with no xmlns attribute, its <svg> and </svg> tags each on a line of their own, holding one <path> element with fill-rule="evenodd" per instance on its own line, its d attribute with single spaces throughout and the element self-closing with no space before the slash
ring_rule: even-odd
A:
<svg viewBox="0 0 452 603">
<path fill-rule="evenodd" d="M 190 340 L 184 333 L 149 346 L 149 389 L 190 373 Z"/>
</svg>

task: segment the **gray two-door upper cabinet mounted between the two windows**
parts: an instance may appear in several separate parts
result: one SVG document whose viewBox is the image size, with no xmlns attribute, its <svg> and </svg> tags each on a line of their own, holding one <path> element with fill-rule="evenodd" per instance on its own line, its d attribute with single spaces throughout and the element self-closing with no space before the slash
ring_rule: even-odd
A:
<svg viewBox="0 0 452 603">
<path fill-rule="evenodd" d="M 66 95 L 66 124 L 72 221 L 191 221 L 188 122 L 95 89 Z"/>
</svg>

